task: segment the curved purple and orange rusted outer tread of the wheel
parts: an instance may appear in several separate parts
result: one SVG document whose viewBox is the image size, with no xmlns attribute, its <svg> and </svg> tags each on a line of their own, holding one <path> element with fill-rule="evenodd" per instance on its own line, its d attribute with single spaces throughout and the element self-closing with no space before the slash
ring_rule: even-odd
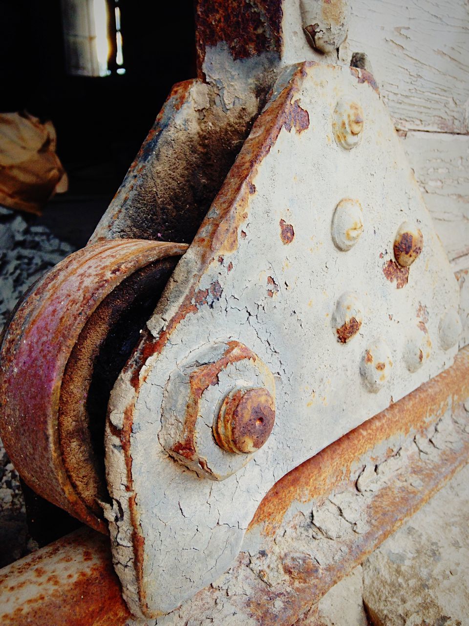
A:
<svg viewBox="0 0 469 626">
<path fill-rule="evenodd" d="M 107 531 L 69 479 L 58 428 L 61 380 L 98 305 L 136 270 L 180 256 L 185 245 L 117 240 L 88 245 L 56 265 L 19 305 L 1 348 L 1 437 L 39 495 Z"/>
</svg>

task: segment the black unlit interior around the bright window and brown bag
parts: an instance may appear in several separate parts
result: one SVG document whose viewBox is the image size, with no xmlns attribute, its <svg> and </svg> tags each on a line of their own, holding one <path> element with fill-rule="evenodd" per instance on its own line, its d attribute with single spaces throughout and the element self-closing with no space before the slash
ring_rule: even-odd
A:
<svg viewBox="0 0 469 626">
<path fill-rule="evenodd" d="M 86 244 L 171 86 L 195 76 L 193 0 L 120 0 L 123 76 L 66 73 L 59 0 L 0 0 L 0 111 L 53 121 L 69 191 L 34 223 Z M 31 218 L 30 218 L 31 219 Z"/>
</svg>

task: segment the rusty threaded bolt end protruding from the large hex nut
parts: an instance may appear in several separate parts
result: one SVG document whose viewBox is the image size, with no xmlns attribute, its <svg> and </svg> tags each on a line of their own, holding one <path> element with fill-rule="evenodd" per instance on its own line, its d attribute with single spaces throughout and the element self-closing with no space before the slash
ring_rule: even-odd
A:
<svg viewBox="0 0 469 626">
<path fill-rule="evenodd" d="M 266 443 L 274 422 L 275 401 L 267 389 L 235 389 L 221 404 L 213 434 L 220 448 L 249 454 Z"/>
</svg>

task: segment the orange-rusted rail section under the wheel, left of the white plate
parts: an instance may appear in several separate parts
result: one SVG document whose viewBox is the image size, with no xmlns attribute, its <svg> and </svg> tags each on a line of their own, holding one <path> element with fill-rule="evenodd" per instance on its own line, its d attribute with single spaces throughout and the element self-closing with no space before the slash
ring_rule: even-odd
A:
<svg viewBox="0 0 469 626">
<path fill-rule="evenodd" d="M 0 570 L 2 626 L 126 623 L 108 544 L 83 529 Z"/>
</svg>

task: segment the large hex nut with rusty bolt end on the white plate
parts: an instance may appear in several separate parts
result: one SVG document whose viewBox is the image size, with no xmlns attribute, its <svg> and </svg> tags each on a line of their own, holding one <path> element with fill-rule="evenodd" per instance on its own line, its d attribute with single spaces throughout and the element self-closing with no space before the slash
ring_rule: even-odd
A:
<svg viewBox="0 0 469 626">
<path fill-rule="evenodd" d="M 270 436 L 275 381 L 244 344 L 207 344 L 171 373 L 162 409 L 166 451 L 199 476 L 224 480 Z"/>
</svg>

